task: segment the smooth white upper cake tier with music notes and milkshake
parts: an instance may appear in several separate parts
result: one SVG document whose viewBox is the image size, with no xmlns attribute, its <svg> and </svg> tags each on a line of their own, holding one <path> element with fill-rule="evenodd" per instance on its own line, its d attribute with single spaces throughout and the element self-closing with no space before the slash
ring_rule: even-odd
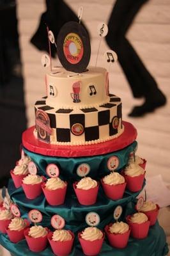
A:
<svg viewBox="0 0 170 256">
<path fill-rule="evenodd" d="M 109 101 L 108 72 L 105 68 L 88 67 L 76 74 L 65 68 L 52 68 L 45 76 L 46 104 L 54 108 L 95 108 Z"/>
</svg>

